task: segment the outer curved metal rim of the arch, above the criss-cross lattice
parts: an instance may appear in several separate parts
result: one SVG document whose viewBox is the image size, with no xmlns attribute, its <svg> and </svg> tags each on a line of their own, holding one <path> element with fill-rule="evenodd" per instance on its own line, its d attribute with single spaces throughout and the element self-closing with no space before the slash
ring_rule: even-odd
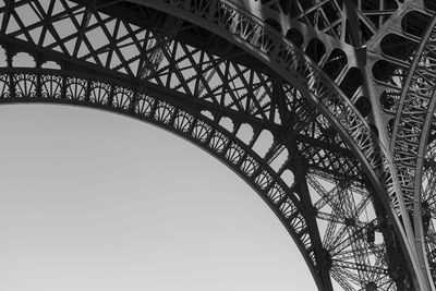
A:
<svg viewBox="0 0 436 291">
<path fill-rule="evenodd" d="M 214 33 L 220 35 L 221 37 L 225 37 L 229 41 L 244 47 L 249 52 L 259 58 L 267 65 L 272 68 L 287 82 L 290 82 L 298 89 L 300 89 L 301 93 L 307 99 L 310 99 L 312 104 L 337 129 L 341 137 L 346 141 L 350 148 L 352 148 L 352 150 L 356 153 L 356 156 L 364 165 L 364 170 L 370 177 L 372 183 L 374 184 L 376 193 L 378 194 L 380 201 L 384 203 L 385 208 L 388 209 L 390 219 L 395 221 L 393 227 L 397 234 L 401 238 L 400 242 L 407 256 L 405 262 L 409 266 L 409 270 L 411 271 L 411 274 L 415 272 L 417 268 L 415 251 L 413 247 L 413 243 L 411 243 L 408 239 L 413 237 L 412 227 L 410 221 L 408 223 L 409 218 L 404 216 L 407 220 L 404 222 L 407 222 L 405 225 L 408 227 L 403 228 L 403 223 L 399 220 L 399 217 L 397 215 L 398 211 L 407 213 L 407 210 L 403 196 L 401 195 L 401 189 L 399 187 L 399 181 L 396 169 L 393 167 L 392 157 L 380 143 L 378 137 L 373 135 L 368 123 L 360 114 L 354 105 L 341 93 L 338 86 L 334 84 L 334 82 L 331 82 L 331 80 L 329 80 L 328 76 L 326 76 L 325 73 L 319 68 L 317 68 L 316 64 L 313 63 L 312 60 L 310 60 L 304 53 L 302 53 L 298 48 L 290 44 L 290 41 L 286 40 L 281 35 L 278 37 L 278 33 L 274 29 L 268 29 L 268 34 L 276 37 L 277 40 L 277 43 L 272 46 L 274 51 L 263 51 L 258 47 L 258 44 L 254 43 L 254 40 L 257 41 L 258 39 L 242 39 L 238 34 L 232 34 L 232 32 L 230 32 L 229 29 L 226 29 L 218 24 L 211 23 L 209 20 L 211 15 L 203 12 L 201 12 L 202 14 L 199 15 L 195 14 L 195 11 L 191 11 L 190 0 L 129 1 L 146 5 L 166 13 L 170 13 L 174 16 L 184 19 L 199 26 L 208 28 L 209 31 L 213 31 Z M 230 4 L 233 7 L 233 9 L 237 10 L 237 5 L 233 4 L 232 1 L 211 1 L 215 4 L 219 2 Z M 243 15 L 249 15 L 247 17 L 250 17 L 250 13 L 247 13 L 246 11 L 244 11 Z M 265 25 L 258 25 L 265 28 Z M 290 53 L 287 60 L 280 60 L 280 58 L 278 57 L 278 49 L 280 48 L 280 45 L 284 46 L 288 49 L 288 52 L 289 50 L 291 50 L 291 52 L 293 53 Z M 303 61 L 307 65 L 307 68 L 304 68 L 304 70 L 308 69 L 305 72 L 312 73 L 312 77 L 317 77 L 318 80 L 311 80 L 312 82 L 310 83 L 312 84 L 304 84 L 302 80 L 299 80 L 298 76 L 295 77 L 293 74 L 295 72 L 299 73 L 298 71 L 301 70 L 299 69 L 300 61 Z M 322 94 L 319 92 L 316 92 L 317 89 L 319 89 Z M 341 110 L 347 111 L 347 113 L 338 113 L 334 109 L 328 108 L 328 102 L 330 102 L 331 100 L 339 101 L 342 106 Z M 353 117 L 352 122 L 354 124 L 352 125 L 349 116 Z M 358 123 L 356 126 L 355 123 Z M 347 129 L 347 125 L 350 126 L 350 129 Z M 386 194 L 386 192 L 388 193 Z M 392 205 L 392 201 L 396 202 L 396 205 Z M 396 208 L 399 208 L 399 210 L 397 210 Z M 419 282 L 417 284 L 421 283 Z"/>
</svg>

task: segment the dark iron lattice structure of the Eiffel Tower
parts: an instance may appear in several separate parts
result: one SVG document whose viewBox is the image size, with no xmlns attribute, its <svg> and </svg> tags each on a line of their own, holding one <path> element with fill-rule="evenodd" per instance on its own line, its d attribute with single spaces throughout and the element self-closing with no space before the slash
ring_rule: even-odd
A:
<svg viewBox="0 0 436 291">
<path fill-rule="evenodd" d="M 133 117 L 226 163 L 319 290 L 436 290 L 436 1 L 3 0 L 0 102 Z"/>
</svg>

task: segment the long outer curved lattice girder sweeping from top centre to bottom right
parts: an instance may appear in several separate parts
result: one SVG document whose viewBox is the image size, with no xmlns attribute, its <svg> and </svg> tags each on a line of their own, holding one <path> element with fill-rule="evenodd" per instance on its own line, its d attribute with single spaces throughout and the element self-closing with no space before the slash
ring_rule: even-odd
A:
<svg viewBox="0 0 436 291">
<path fill-rule="evenodd" d="M 426 272 L 419 267 L 420 262 L 414 250 L 413 228 L 400 186 L 401 177 L 397 175 L 392 157 L 378 140 L 377 133 L 372 130 L 342 90 L 291 41 L 232 1 L 167 0 L 159 3 L 150 1 L 146 5 L 169 11 L 190 21 L 195 21 L 197 17 L 199 25 L 225 37 L 230 33 L 235 38 L 232 39 L 234 43 L 246 46 L 249 50 L 254 49 L 284 80 L 295 85 L 331 124 L 335 124 L 348 145 L 362 160 L 363 168 L 372 179 L 378 197 L 388 209 L 390 219 L 395 221 L 393 226 L 401 238 L 400 243 L 404 250 L 405 262 L 410 271 L 415 272 L 412 277 L 419 278 L 415 284 L 427 288 L 425 286 L 429 282 Z M 207 21 L 206 24 L 204 20 Z M 387 195 L 384 194 L 386 192 Z M 400 221 L 400 217 L 403 222 Z"/>
</svg>

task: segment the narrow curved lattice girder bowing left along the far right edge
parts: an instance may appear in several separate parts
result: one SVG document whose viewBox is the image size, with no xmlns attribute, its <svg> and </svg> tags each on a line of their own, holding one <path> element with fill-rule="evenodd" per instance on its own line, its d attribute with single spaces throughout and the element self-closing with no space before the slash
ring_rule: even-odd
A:
<svg viewBox="0 0 436 291">
<path fill-rule="evenodd" d="M 427 179 L 427 175 L 423 175 L 424 156 L 436 108 L 436 77 L 433 65 L 435 49 L 436 17 L 433 17 L 404 81 L 391 140 L 397 169 L 403 173 L 403 179 L 400 181 L 403 194 L 408 195 L 414 204 L 411 214 L 417 242 L 416 248 L 431 278 L 434 278 L 429 267 L 434 265 L 434 256 L 426 252 L 433 248 L 432 245 L 435 242 L 432 235 L 426 233 L 431 226 L 426 226 L 427 231 L 424 230 L 423 217 L 424 211 L 431 211 L 434 206 L 428 205 L 428 209 L 423 209 L 424 202 L 431 201 L 432 197 L 428 195 L 423 197 L 422 183 L 424 179 Z"/>
</svg>

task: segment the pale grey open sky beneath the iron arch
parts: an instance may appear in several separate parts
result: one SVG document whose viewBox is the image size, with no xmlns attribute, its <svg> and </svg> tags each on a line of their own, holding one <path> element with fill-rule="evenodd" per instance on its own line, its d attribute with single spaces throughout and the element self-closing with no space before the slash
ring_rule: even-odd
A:
<svg viewBox="0 0 436 291">
<path fill-rule="evenodd" d="M 0 106 L 0 290 L 316 290 L 241 178 L 164 130 Z"/>
</svg>

